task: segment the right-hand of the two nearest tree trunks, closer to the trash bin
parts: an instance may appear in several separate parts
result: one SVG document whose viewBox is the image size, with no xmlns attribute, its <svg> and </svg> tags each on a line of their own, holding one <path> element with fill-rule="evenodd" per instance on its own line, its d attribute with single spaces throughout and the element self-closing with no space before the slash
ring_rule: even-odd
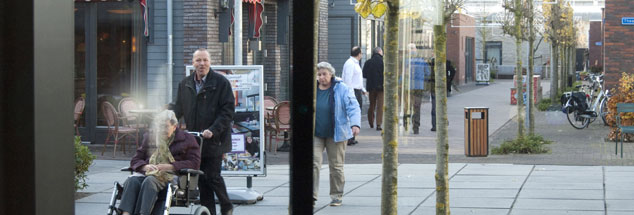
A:
<svg viewBox="0 0 634 215">
<path fill-rule="evenodd" d="M 449 140 L 447 139 L 447 32 L 444 22 L 434 25 L 436 91 L 436 214 L 449 213 Z"/>
</svg>

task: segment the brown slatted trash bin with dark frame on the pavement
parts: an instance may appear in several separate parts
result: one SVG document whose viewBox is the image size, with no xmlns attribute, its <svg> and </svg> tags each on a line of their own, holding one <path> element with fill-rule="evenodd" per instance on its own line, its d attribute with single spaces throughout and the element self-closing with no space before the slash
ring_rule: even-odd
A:
<svg viewBox="0 0 634 215">
<path fill-rule="evenodd" d="M 464 149 L 467 157 L 489 155 L 489 108 L 465 107 Z"/>
</svg>

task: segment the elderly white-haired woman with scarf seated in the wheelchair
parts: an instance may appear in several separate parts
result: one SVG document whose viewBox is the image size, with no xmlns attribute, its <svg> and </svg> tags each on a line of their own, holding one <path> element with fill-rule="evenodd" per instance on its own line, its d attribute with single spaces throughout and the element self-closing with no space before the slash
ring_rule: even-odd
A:
<svg viewBox="0 0 634 215">
<path fill-rule="evenodd" d="M 187 175 L 184 182 L 187 187 L 190 183 L 193 186 L 193 188 L 183 188 L 185 191 L 180 192 L 195 190 L 196 183 L 190 182 L 189 179 L 191 174 L 202 174 L 198 170 L 200 147 L 193 135 L 179 130 L 177 125 L 176 115 L 170 110 L 155 116 L 152 131 L 144 135 L 143 143 L 137 149 L 127 169 L 135 173 L 126 179 L 123 187 L 115 182 L 109 214 L 112 214 L 113 210 L 117 214 L 124 215 L 151 214 L 153 209 L 156 210 L 154 204 L 159 193 L 165 188 L 169 190 L 165 201 L 171 202 L 170 192 L 178 188 L 167 187 L 167 185 L 173 182 L 179 184 L 177 178 L 179 174 Z M 185 195 L 186 199 L 190 197 L 189 193 Z M 119 207 L 114 207 L 117 199 L 121 199 L 121 203 Z M 185 202 L 189 203 L 189 200 Z M 169 204 L 166 206 L 165 210 L 169 211 Z M 154 211 L 154 213 L 157 212 Z"/>
</svg>

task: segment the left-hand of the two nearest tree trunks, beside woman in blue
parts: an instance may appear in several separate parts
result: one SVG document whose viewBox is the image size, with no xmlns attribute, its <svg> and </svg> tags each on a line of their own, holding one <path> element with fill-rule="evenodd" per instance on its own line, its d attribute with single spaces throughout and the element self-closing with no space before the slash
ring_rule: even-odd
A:
<svg viewBox="0 0 634 215">
<path fill-rule="evenodd" d="M 396 215 L 398 200 L 398 112 L 397 71 L 399 0 L 387 1 L 385 17 L 385 103 L 383 118 L 383 178 L 381 214 Z M 378 126 L 378 125 L 377 125 Z"/>
</svg>

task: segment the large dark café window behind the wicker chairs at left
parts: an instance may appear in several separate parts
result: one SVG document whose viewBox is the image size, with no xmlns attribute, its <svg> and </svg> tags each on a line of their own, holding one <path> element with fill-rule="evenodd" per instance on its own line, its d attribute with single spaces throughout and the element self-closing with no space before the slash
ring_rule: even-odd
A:
<svg viewBox="0 0 634 215">
<path fill-rule="evenodd" d="M 144 86 L 140 83 L 142 31 L 137 1 L 75 3 L 75 97 L 87 98 L 86 109 L 96 113 L 96 119 L 95 114 L 86 119 L 93 121 L 91 125 L 106 125 L 102 102 L 117 107 L 122 98 L 137 96 Z"/>
</svg>

